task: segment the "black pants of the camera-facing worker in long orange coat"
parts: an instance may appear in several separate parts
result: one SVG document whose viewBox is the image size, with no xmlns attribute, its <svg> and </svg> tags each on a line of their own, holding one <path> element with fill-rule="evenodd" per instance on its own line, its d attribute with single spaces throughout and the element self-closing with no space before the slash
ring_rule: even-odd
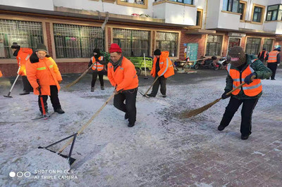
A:
<svg viewBox="0 0 282 187">
<path fill-rule="evenodd" d="M 60 104 L 59 96 L 58 96 L 57 86 L 53 86 L 53 85 L 50 86 L 50 92 L 51 92 L 51 96 L 49 96 L 49 97 L 51 99 L 51 103 L 52 103 L 52 106 L 53 106 L 54 110 L 61 108 L 61 104 Z M 48 96 L 47 95 L 43 95 L 42 98 L 43 98 L 43 103 L 44 103 L 45 111 L 48 112 L 48 106 L 47 106 Z M 42 112 L 40 96 L 38 96 L 38 105 L 39 105 L 40 112 Z"/>
</svg>

